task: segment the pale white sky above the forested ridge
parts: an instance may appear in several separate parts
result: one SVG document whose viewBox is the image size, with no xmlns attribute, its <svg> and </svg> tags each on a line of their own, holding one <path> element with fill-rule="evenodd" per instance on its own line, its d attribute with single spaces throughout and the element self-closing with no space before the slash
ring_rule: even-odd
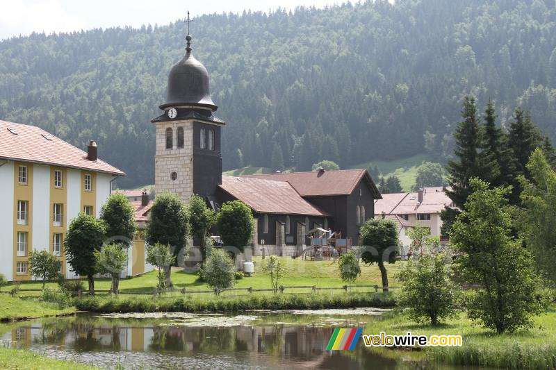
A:
<svg viewBox="0 0 556 370">
<path fill-rule="evenodd" d="M 113 26 L 169 24 L 214 12 L 268 11 L 276 8 L 341 3 L 338 0 L 0 0 L 0 40 L 35 32 L 59 33 Z M 193 24 L 192 24 L 193 26 Z"/>
</svg>

